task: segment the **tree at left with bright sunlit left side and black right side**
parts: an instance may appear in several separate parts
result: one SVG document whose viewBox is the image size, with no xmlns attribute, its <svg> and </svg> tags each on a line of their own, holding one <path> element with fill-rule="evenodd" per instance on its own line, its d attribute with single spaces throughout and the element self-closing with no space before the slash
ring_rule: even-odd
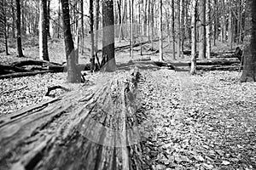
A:
<svg viewBox="0 0 256 170">
<path fill-rule="evenodd" d="M 47 0 L 39 1 L 39 58 L 49 61 Z"/>
</svg>

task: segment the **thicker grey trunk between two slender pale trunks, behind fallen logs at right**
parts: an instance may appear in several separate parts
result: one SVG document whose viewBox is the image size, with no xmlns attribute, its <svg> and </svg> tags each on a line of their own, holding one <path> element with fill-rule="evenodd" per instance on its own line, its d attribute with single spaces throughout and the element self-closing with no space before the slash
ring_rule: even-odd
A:
<svg viewBox="0 0 256 170">
<path fill-rule="evenodd" d="M 199 59 L 206 59 L 206 0 L 199 1 Z"/>
</svg>

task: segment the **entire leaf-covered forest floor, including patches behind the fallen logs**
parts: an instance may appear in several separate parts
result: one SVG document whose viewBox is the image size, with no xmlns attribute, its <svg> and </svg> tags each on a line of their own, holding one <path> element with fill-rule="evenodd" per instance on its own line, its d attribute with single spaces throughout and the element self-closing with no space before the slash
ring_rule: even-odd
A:
<svg viewBox="0 0 256 170">
<path fill-rule="evenodd" d="M 221 49 L 224 50 L 224 49 Z M 38 46 L 26 45 L 26 58 L 0 54 L 0 64 L 38 59 Z M 51 61 L 65 61 L 62 42 L 49 43 Z M 147 57 L 144 55 L 143 57 Z M 149 56 L 156 59 L 156 56 Z M 167 56 L 165 56 L 167 58 Z M 89 62 L 86 55 L 81 62 Z M 134 59 L 142 56 L 136 52 Z M 129 51 L 117 53 L 117 62 L 129 61 Z M 143 136 L 144 169 L 256 169 L 256 83 L 238 81 L 238 71 L 187 72 L 163 69 L 141 70 L 141 109 L 150 123 Z M 97 81 L 101 72 L 85 77 Z M 67 84 L 67 73 L 0 80 L 0 116 L 48 99 L 47 87 Z M 15 91 L 17 89 L 17 91 Z M 56 90 L 58 96 L 65 92 Z"/>
</svg>

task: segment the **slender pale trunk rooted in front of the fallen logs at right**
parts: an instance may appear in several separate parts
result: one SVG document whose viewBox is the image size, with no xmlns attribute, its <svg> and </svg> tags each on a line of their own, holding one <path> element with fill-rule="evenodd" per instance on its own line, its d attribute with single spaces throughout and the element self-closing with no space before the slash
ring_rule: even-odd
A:
<svg viewBox="0 0 256 170">
<path fill-rule="evenodd" d="M 197 1 L 192 1 L 192 18 L 191 18 L 191 36 L 192 36 L 192 44 L 191 44 L 191 68 L 190 74 L 195 74 L 196 71 L 196 6 Z"/>
</svg>

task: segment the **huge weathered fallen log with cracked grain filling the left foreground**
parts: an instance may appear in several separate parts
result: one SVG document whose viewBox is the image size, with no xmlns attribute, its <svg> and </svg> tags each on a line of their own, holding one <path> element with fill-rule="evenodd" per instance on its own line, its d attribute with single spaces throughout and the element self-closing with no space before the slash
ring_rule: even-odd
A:
<svg viewBox="0 0 256 170">
<path fill-rule="evenodd" d="M 0 169 L 143 169 L 133 128 L 141 75 L 102 77 L 97 86 L 1 116 Z"/>
</svg>

